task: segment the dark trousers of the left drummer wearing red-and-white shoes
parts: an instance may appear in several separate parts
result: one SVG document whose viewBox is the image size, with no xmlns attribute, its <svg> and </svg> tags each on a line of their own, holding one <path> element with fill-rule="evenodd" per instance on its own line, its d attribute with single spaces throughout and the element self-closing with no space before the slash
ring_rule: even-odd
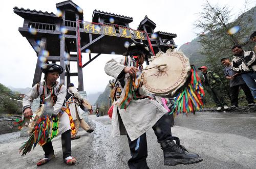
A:
<svg viewBox="0 0 256 169">
<path fill-rule="evenodd" d="M 61 144 L 62 144 L 62 152 L 63 152 L 63 159 L 71 156 L 71 130 L 65 131 L 61 134 Z M 45 157 L 48 158 L 51 155 L 54 155 L 54 150 L 52 147 L 52 142 L 46 143 L 42 146 L 42 149 L 45 152 Z"/>
</svg>

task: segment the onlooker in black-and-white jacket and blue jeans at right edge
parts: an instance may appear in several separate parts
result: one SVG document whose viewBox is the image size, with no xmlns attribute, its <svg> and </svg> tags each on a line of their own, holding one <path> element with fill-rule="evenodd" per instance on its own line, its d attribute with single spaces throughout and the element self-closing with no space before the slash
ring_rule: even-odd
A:
<svg viewBox="0 0 256 169">
<path fill-rule="evenodd" d="M 231 69 L 241 73 L 246 85 L 250 88 L 251 94 L 256 99 L 256 63 L 255 53 L 253 51 L 244 51 L 241 46 L 232 47 L 234 59 Z"/>
</svg>

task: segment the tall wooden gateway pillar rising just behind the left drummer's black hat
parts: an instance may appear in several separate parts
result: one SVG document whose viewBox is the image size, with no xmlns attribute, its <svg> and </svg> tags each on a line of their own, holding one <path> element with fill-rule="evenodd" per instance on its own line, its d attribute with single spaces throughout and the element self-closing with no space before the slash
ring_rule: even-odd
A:
<svg viewBox="0 0 256 169">
<path fill-rule="evenodd" d="M 62 26 L 65 26 L 65 11 L 62 11 Z M 59 62 L 60 66 L 63 68 L 63 73 L 60 74 L 60 82 L 65 85 L 65 73 L 66 73 L 66 67 L 65 67 L 65 34 L 61 33 L 62 38 L 60 38 L 60 52 L 59 52 Z"/>
</svg>

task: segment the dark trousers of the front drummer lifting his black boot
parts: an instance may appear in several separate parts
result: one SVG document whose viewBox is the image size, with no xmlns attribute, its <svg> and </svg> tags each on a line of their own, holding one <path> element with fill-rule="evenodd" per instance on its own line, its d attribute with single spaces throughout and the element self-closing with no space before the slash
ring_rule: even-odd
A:
<svg viewBox="0 0 256 169">
<path fill-rule="evenodd" d="M 172 139 L 172 132 L 170 130 L 170 118 L 168 118 L 168 113 L 160 118 L 157 123 L 152 127 L 157 136 L 157 142 L 162 143 L 165 140 Z M 147 157 L 147 143 L 146 143 L 146 133 L 142 134 L 139 138 L 131 141 L 128 137 L 129 147 L 131 151 L 132 158 L 129 159 L 128 165 L 133 169 L 144 169 L 148 168 L 146 163 Z"/>
</svg>

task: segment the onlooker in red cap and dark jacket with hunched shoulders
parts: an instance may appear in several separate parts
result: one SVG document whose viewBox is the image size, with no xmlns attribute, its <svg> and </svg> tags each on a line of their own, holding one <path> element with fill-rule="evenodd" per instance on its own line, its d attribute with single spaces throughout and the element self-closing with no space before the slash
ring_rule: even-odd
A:
<svg viewBox="0 0 256 169">
<path fill-rule="evenodd" d="M 204 89 L 208 92 L 209 95 L 212 96 L 212 99 L 214 99 L 214 102 L 217 105 L 217 110 L 221 110 L 223 107 L 224 109 L 227 109 L 227 103 L 225 102 L 225 99 L 222 95 L 221 92 L 221 79 L 220 77 L 212 72 L 207 70 L 206 66 L 202 66 L 201 68 L 198 68 L 201 70 L 202 75 L 201 75 L 201 80 L 202 80 L 202 85 Z"/>
</svg>

